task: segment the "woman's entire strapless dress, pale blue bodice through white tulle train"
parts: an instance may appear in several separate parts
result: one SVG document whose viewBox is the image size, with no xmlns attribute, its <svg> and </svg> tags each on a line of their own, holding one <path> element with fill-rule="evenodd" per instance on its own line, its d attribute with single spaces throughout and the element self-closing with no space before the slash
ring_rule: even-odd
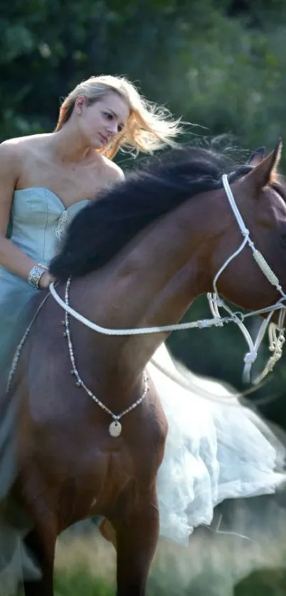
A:
<svg viewBox="0 0 286 596">
<path fill-rule="evenodd" d="M 82 200 L 65 209 L 60 198 L 47 188 L 16 190 L 11 241 L 31 259 L 49 264 L 66 225 L 87 202 Z M 0 362 L 6 359 L 18 315 L 35 293 L 27 281 L 0 266 Z M 155 353 L 155 360 L 174 374 L 164 345 Z M 275 492 L 285 481 L 284 473 L 276 471 L 285 452 L 253 413 L 238 403 L 229 407 L 214 399 L 224 397 L 226 401 L 230 396 L 222 384 L 189 373 L 187 391 L 151 363 L 148 372 L 169 423 L 158 475 L 160 535 L 187 544 L 196 526 L 211 524 L 214 507 L 224 499 Z M 9 416 L 11 426 L 13 411 L 0 410 L 0 502 L 13 474 L 2 432 L 9 428 Z"/>
</svg>

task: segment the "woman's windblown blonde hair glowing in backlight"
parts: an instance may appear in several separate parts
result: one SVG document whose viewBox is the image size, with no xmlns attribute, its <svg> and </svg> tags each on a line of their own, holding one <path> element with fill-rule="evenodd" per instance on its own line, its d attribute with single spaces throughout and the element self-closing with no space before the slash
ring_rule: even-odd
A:
<svg viewBox="0 0 286 596">
<path fill-rule="evenodd" d="M 70 118 L 75 102 L 80 95 L 84 95 L 87 102 L 93 104 L 109 91 L 113 91 L 125 99 L 130 109 L 130 115 L 126 126 L 116 136 L 116 139 L 103 150 L 99 150 L 106 157 L 112 159 L 119 148 L 135 150 L 136 153 L 139 151 L 152 153 L 165 145 L 174 146 L 176 144 L 173 139 L 181 132 L 180 119 L 172 119 L 167 109 L 148 102 L 126 77 L 110 75 L 89 77 L 67 95 L 60 107 L 55 131 L 62 129 L 62 126 Z"/>
</svg>

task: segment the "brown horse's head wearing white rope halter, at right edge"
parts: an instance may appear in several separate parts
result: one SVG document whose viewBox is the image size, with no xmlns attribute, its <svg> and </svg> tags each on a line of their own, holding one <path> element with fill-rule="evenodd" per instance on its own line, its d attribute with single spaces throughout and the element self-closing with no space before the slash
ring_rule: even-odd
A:
<svg viewBox="0 0 286 596">
<path fill-rule="evenodd" d="M 231 183 L 231 191 L 249 230 L 250 240 L 286 293 L 286 182 L 277 174 L 281 149 L 280 141 L 266 158 L 263 151 L 255 152 L 250 161 L 251 170 Z M 229 217 L 226 217 L 219 250 L 214 254 L 214 273 L 243 242 L 243 234 L 231 205 L 227 208 L 233 220 L 231 218 L 230 222 Z M 264 308 L 281 298 L 253 258 L 253 249 L 248 243 L 221 273 L 217 287 L 226 298 L 248 310 Z"/>
</svg>

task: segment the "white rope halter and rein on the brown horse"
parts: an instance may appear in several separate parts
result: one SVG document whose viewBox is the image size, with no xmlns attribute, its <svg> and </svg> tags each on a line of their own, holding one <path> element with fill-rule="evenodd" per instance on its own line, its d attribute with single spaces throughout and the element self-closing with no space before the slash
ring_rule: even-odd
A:
<svg viewBox="0 0 286 596">
<path fill-rule="evenodd" d="M 261 345 L 263 337 L 265 336 L 265 332 L 267 330 L 268 324 L 270 323 L 270 319 L 275 310 L 280 310 L 278 325 L 275 325 L 274 323 L 270 323 L 269 325 L 270 351 L 273 352 L 273 355 L 268 360 L 268 363 L 266 364 L 263 373 L 260 374 L 260 376 L 258 376 L 258 378 L 253 381 L 253 383 L 258 384 L 258 382 L 260 382 L 261 379 L 263 379 L 268 374 L 268 372 L 270 372 L 273 369 L 275 363 L 278 359 L 280 359 L 282 355 L 282 345 L 285 341 L 283 325 L 286 308 L 283 302 L 284 300 L 286 300 L 286 294 L 282 290 L 282 286 L 280 286 L 277 276 L 275 276 L 275 273 L 272 271 L 267 261 L 265 261 L 263 255 L 257 249 L 255 249 L 255 246 L 250 239 L 250 232 L 246 228 L 243 222 L 243 218 L 241 217 L 241 214 L 238 211 L 238 207 L 231 192 L 229 180 L 226 174 L 222 176 L 222 182 L 224 185 L 224 190 L 226 191 L 226 196 L 229 199 L 229 204 L 231 205 L 231 209 L 233 210 L 233 214 L 235 215 L 236 221 L 238 222 L 238 226 L 241 229 L 243 241 L 241 242 L 241 246 L 239 246 L 238 249 L 234 251 L 233 254 L 231 254 L 231 256 L 229 256 L 229 259 L 225 261 L 225 263 L 221 266 L 221 269 L 219 269 L 219 271 L 216 273 L 213 282 L 213 293 L 207 294 L 207 298 L 209 300 L 209 307 L 211 310 L 211 314 L 213 315 L 213 318 L 193 321 L 190 323 L 178 323 L 177 325 L 163 325 L 162 327 L 141 327 L 138 329 L 109 329 L 108 327 L 101 327 L 100 325 L 97 325 L 96 323 L 93 323 L 89 319 L 85 318 L 80 313 L 77 313 L 77 311 L 74 310 L 74 308 L 72 308 L 70 305 L 68 305 L 65 300 L 62 300 L 62 298 L 60 298 L 57 291 L 55 291 L 54 283 L 50 284 L 50 293 L 52 294 L 53 298 L 55 298 L 57 303 L 67 313 L 72 315 L 72 317 L 77 319 L 80 323 L 83 323 L 84 325 L 89 327 L 89 329 L 92 329 L 104 335 L 145 335 L 150 333 L 158 333 L 162 331 L 192 329 L 194 327 L 202 329 L 204 327 L 211 327 L 213 325 L 215 325 L 216 327 L 222 327 L 225 323 L 236 323 L 236 325 L 238 325 L 239 329 L 243 333 L 243 336 L 245 337 L 249 348 L 249 352 L 246 354 L 246 357 L 244 358 L 245 367 L 243 371 L 243 381 L 247 382 L 250 382 L 251 366 L 257 358 L 258 349 Z M 241 251 L 243 251 L 246 244 L 248 244 L 248 246 L 251 247 L 253 258 L 260 267 L 261 271 L 263 271 L 265 277 L 268 278 L 268 281 L 273 286 L 275 286 L 277 292 L 281 294 L 281 298 L 280 300 L 277 300 L 277 303 L 275 303 L 274 305 L 268 306 L 267 308 L 261 308 L 260 310 L 255 310 L 251 313 L 241 313 L 240 311 L 233 312 L 231 308 L 228 305 L 226 305 L 226 303 L 224 303 L 224 300 L 222 300 L 219 297 L 219 293 L 217 291 L 217 281 L 224 269 L 226 269 L 226 267 L 231 263 L 231 261 L 233 261 L 233 259 L 235 259 L 235 257 L 241 253 Z M 226 310 L 226 313 L 229 313 L 229 316 L 221 317 L 221 314 L 219 313 L 219 308 L 224 308 L 224 310 Z M 244 325 L 243 321 L 250 316 L 260 315 L 263 313 L 268 313 L 268 316 L 265 318 L 265 320 L 263 320 L 263 323 L 260 326 L 260 330 L 258 331 L 258 335 L 255 339 L 255 342 L 253 342 L 251 335 L 248 332 L 246 325 Z"/>
</svg>

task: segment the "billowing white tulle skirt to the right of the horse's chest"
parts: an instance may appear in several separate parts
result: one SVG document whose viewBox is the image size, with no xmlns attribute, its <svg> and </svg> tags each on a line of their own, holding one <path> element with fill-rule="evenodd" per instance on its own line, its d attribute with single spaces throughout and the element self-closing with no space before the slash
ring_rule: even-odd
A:
<svg viewBox="0 0 286 596">
<path fill-rule="evenodd" d="M 158 474 L 160 536 L 187 544 L 224 499 L 274 493 L 286 479 L 285 448 L 223 384 L 188 372 L 185 389 L 153 363 L 177 379 L 180 372 L 165 345 L 148 364 L 169 424 Z"/>
</svg>

